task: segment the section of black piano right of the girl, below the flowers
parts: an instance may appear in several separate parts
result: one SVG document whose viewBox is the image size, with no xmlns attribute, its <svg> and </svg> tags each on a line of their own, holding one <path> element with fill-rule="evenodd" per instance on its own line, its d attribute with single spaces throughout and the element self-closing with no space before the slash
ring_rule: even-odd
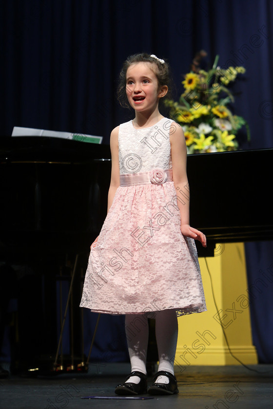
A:
<svg viewBox="0 0 273 409">
<path fill-rule="evenodd" d="M 188 156 L 191 224 L 209 242 L 273 239 L 273 149 Z"/>
</svg>

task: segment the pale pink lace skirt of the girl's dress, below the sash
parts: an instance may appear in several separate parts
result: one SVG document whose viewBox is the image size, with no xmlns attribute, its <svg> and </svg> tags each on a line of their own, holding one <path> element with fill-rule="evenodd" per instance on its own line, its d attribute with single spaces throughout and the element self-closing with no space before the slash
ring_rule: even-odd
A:
<svg viewBox="0 0 273 409">
<path fill-rule="evenodd" d="M 206 311 L 195 242 L 180 231 L 176 200 L 187 198 L 168 178 L 117 188 L 90 252 L 81 307 L 107 314 Z"/>
</svg>

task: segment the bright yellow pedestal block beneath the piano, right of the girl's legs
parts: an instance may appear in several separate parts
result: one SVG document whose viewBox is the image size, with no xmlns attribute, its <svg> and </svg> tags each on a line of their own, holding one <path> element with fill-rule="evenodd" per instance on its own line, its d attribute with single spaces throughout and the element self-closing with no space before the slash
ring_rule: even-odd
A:
<svg viewBox="0 0 273 409">
<path fill-rule="evenodd" d="M 199 263 L 208 311 L 178 318 L 175 365 L 180 371 L 190 365 L 239 365 L 222 326 L 233 355 L 245 365 L 256 364 L 243 243 L 216 244 L 215 257 Z"/>
</svg>

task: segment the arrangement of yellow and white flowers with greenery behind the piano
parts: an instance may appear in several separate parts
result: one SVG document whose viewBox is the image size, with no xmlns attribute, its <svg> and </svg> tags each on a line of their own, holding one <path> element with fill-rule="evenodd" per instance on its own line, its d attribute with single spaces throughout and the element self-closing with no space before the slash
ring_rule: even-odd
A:
<svg viewBox="0 0 273 409">
<path fill-rule="evenodd" d="M 248 140 L 250 133 L 246 120 L 228 108 L 234 96 L 227 86 L 246 70 L 244 67 L 221 69 L 217 66 L 219 56 L 215 57 L 212 69 L 201 70 L 198 62 L 206 53 L 200 53 L 199 59 L 193 60 L 191 72 L 184 76 L 185 91 L 179 101 L 166 100 L 165 105 L 170 108 L 170 117 L 183 128 L 188 153 L 236 150 L 237 131 L 245 126 Z"/>
</svg>

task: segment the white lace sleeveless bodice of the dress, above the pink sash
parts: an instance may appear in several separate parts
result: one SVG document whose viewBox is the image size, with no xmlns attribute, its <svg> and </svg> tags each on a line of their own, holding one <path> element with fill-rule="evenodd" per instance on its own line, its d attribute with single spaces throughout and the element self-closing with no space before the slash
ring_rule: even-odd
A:
<svg viewBox="0 0 273 409">
<path fill-rule="evenodd" d="M 135 129 L 133 122 L 119 125 L 119 173 L 172 169 L 170 130 L 173 121 L 162 118 L 149 128 Z"/>
</svg>

